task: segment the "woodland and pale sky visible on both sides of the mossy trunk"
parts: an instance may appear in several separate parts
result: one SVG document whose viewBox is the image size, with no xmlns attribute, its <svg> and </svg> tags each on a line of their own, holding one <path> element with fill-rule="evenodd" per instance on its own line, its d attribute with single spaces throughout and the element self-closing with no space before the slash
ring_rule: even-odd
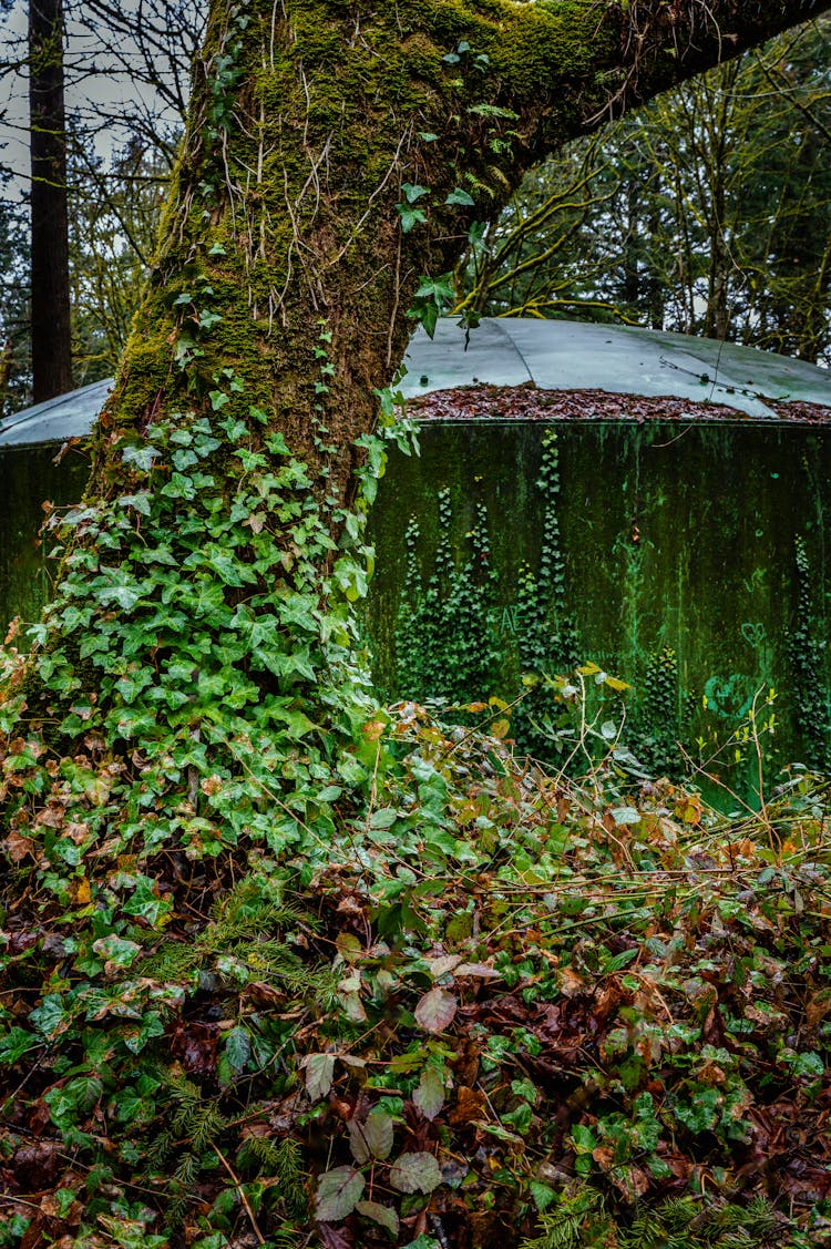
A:
<svg viewBox="0 0 831 1249">
<path fill-rule="evenodd" d="M 200 0 L 64 12 L 71 383 L 111 376 L 159 227 Z M 31 402 L 25 6 L 0 62 L 0 413 Z M 21 29 L 22 27 L 22 29 Z M 707 335 L 827 363 L 830 34 L 820 19 L 666 92 L 526 175 L 471 236 L 444 310 Z"/>
</svg>

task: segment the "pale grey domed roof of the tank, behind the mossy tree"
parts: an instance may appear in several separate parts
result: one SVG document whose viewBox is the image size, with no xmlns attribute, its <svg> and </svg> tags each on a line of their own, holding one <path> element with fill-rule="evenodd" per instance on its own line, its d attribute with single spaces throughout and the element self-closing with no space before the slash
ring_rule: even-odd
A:
<svg viewBox="0 0 831 1249">
<path fill-rule="evenodd" d="M 815 365 L 712 338 L 576 321 L 484 320 L 469 335 L 451 318 L 424 330 L 405 356 L 406 398 L 476 382 L 540 390 L 600 390 L 726 403 L 747 416 L 779 420 L 765 400 L 831 408 L 831 372 Z M 85 437 L 111 380 L 47 400 L 0 423 L 0 450 Z"/>
</svg>

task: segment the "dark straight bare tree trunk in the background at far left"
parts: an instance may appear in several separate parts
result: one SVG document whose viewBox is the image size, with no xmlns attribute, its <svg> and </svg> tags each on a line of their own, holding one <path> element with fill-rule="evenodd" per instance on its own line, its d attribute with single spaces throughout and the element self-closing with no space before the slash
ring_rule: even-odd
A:
<svg viewBox="0 0 831 1249">
<path fill-rule="evenodd" d="M 62 0 L 29 4 L 34 400 L 72 385 Z"/>
</svg>

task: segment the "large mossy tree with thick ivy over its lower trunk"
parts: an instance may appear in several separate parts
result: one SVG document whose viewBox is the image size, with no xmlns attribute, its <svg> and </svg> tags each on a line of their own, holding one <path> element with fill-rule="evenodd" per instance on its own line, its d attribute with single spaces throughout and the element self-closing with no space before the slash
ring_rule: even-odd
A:
<svg viewBox="0 0 831 1249">
<path fill-rule="evenodd" d="M 351 605 L 370 558 L 372 430 L 390 407 L 376 391 L 414 315 L 430 325 L 452 297 L 471 224 L 532 161 L 810 12 L 805 0 L 211 5 L 87 497 L 57 526 L 55 600 L 31 656 L 9 652 L 0 696 L 15 868 L 5 975 L 12 992 L 27 985 L 0 1055 L 21 1130 L 36 1115 L 42 1130 L 46 1114 L 59 1153 L 109 1177 L 90 1218 L 127 1218 L 141 1135 L 150 1172 L 130 1209 L 175 1208 L 176 1225 L 201 1170 L 212 1194 L 230 1175 L 236 1200 L 222 1133 L 239 1134 L 254 1098 L 284 1113 L 285 1060 L 255 1055 L 249 1083 L 252 1033 L 221 1014 L 217 1067 L 214 1017 L 194 1012 L 205 993 L 230 1009 L 230 994 L 246 1018 L 251 1002 L 276 1012 L 262 1037 L 292 1029 L 282 990 L 245 969 L 239 943 L 286 922 L 281 872 L 320 884 L 349 859 L 396 767 L 394 746 L 379 762 L 385 722 L 355 659 Z M 231 886 L 232 958 L 207 918 Z M 280 965 L 295 974 L 287 955 Z M 360 1022 L 355 992 L 340 993 Z M 27 1087 L 15 1064 L 30 1050 Z M 182 1067 L 159 1075 L 171 1050 L 189 1079 Z M 307 1058 L 309 1095 L 325 1097 L 327 1053 Z M 91 1108 L 96 1124 L 79 1127 Z M 434 1183 L 424 1150 L 407 1157 L 422 1169 L 402 1192 Z M 352 1209 L 341 1198 L 319 1202 L 324 1224 Z"/>
</svg>

